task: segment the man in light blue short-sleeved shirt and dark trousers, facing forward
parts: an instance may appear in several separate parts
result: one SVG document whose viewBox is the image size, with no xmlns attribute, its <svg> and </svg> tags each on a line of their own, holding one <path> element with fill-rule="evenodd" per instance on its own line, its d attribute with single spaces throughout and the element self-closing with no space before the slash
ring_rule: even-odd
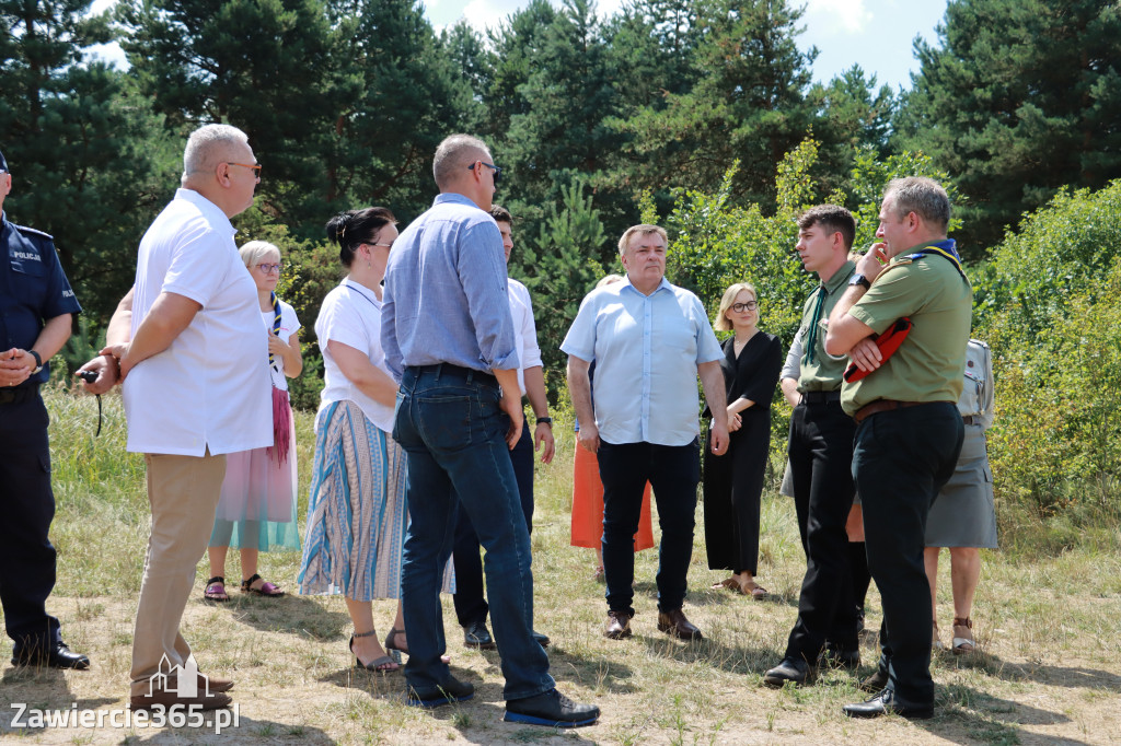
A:
<svg viewBox="0 0 1121 746">
<path fill-rule="evenodd" d="M 627 280 L 589 295 L 560 345 L 580 446 L 597 454 L 603 481 L 603 634 L 612 640 L 631 635 L 633 535 L 648 479 L 661 525 L 658 628 L 680 640 L 702 637 L 682 610 L 701 478 L 697 375 L 714 413 L 712 451 L 728 450 L 724 353 L 701 300 L 666 281 L 666 246 L 656 225 L 627 229 L 619 240 Z"/>
</svg>

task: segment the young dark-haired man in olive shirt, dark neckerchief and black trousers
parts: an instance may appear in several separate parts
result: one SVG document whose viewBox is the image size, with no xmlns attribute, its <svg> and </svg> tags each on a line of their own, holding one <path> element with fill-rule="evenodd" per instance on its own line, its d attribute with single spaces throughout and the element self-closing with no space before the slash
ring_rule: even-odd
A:
<svg viewBox="0 0 1121 746">
<path fill-rule="evenodd" d="M 790 416 L 787 449 L 806 576 L 782 661 L 763 673 L 769 687 L 808 683 L 826 640 L 831 662 L 852 669 L 860 665 L 859 617 L 845 533 L 854 495 L 855 423 L 841 409 L 841 381 L 849 358 L 828 355 L 824 345 L 830 311 L 856 268 L 849 261 L 855 232 L 852 214 L 836 205 L 818 205 L 798 217 L 795 248 L 806 271 L 822 282 L 802 313 L 800 398 Z"/>
</svg>

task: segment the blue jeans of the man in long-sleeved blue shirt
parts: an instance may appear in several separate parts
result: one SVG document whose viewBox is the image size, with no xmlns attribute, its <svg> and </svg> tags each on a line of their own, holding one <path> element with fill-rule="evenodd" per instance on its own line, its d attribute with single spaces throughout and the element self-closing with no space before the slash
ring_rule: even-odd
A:
<svg viewBox="0 0 1121 746">
<path fill-rule="evenodd" d="M 452 553 L 460 511 L 487 551 L 483 568 L 494 641 L 506 677 L 504 699 L 554 688 L 549 659 L 532 637 L 534 576 L 529 531 L 507 453 L 510 418 L 499 407 L 494 376 L 455 365 L 408 367 L 397 392 L 393 439 L 408 454 L 408 533 L 401 604 L 409 635 L 405 678 L 428 689 L 451 672 L 439 604 L 443 568 Z"/>
</svg>

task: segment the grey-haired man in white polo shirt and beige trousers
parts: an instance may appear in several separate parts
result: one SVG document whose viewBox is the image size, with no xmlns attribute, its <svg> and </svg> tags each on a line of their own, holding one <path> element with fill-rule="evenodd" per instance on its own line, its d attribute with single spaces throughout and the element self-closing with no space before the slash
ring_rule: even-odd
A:
<svg viewBox="0 0 1121 746">
<path fill-rule="evenodd" d="M 84 366 L 100 372 L 89 386 L 98 391 L 119 364 L 128 449 L 148 467 L 133 709 L 230 703 L 223 692 L 233 682 L 197 674 L 179 622 L 214 525 L 225 454 L 272 444 L 257 288 L 230 224 L 253 203 L 260 166 L 244 132 L 225 124 L 195 130 L 183 161 L 183 187 L 140 242 L 136 285 L 110 323 L 109 346 Z"/>
</svg>

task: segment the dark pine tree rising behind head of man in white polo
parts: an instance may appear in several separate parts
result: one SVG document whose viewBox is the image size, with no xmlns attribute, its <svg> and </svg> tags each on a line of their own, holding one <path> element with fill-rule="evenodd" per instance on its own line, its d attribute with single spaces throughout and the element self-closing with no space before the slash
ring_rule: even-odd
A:
<svg viewBox="0 0 1121 746">
<path fill-rule="evenodd" d="M 210 122 L 249 134 L 258 202 L 322 224 L 332 101 L 332 29 L 318 0 L 126 0 L 129 74 L 182 139 Z"/>
</svg>

